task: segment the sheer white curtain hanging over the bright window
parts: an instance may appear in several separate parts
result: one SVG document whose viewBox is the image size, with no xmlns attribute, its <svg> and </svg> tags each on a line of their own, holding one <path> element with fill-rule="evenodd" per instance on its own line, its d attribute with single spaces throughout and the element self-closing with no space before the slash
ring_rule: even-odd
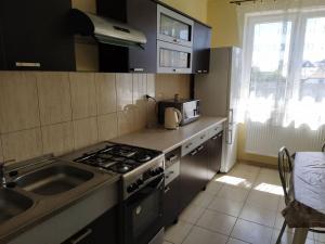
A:
<svg viewBox="0 0 325 244">
<path fill-rule="evenodd" d="M 275 156 L 325 140 L 325 0 L 263 0 L 238 9 L 246 151 Z"/>
</svg>

